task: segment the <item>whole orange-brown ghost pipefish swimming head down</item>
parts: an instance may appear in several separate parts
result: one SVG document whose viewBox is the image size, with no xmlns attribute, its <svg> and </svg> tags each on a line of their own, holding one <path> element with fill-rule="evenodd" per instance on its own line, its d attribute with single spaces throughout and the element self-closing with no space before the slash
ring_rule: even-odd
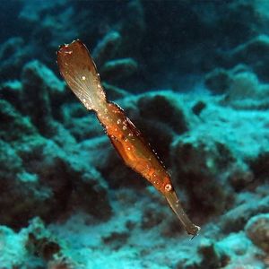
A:
<svg viewBox="0 0 269 269">
<path fill-rule="evenodd" d="M 57 65 L 65 82 L 89 110 L 93 110 L 126 166 L 146 178 L 165 196 L 187 233 L 196 236 L 200 227 L 189 220 L 172 186 L 169 173 L 149 143 L 122 108 L 108 101 L 100 76 L 86 46 L 80 40 L 60 46 Z"/>
</svg>

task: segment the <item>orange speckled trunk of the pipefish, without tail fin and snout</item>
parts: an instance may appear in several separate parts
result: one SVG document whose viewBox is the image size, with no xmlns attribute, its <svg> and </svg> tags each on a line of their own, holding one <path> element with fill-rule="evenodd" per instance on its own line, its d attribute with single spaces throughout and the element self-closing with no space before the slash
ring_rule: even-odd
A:
<svg viewBox="0 0 269 269">
<path fill-rule="evenodd" d="M 126 165 L 164 194 L 165 188 L 172 185 L 169 174 L 124 111 L 108 102 L 107 112 L 97 113 L 97 117 Z"/>
</svg>

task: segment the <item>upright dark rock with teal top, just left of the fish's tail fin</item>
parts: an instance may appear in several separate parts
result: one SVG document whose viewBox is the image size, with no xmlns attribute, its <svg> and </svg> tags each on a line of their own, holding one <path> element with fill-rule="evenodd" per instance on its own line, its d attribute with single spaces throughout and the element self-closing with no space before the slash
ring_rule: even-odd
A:
<svg viewBox="0 0 269 269">
<path fill-rule="evenodd" d="M 46 65 L 31 61 L 23 67 L 22 87 L 22 113 L 30 115 L 39 133 L 61 146 L 74 143 L 72 134 L 56 121 L 60 118 L 61 105 L 67 96 L 65 83 L 60 82 Z"/>
</svg>

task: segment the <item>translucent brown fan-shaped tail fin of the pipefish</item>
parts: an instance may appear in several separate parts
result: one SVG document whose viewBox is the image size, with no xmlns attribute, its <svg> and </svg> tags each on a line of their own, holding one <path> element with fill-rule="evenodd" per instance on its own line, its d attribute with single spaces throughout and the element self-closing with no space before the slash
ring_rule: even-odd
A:
<svg viewBox="0 0 269 269">
<path fill-rule="evenodd" d="M 106 102 L 106 94 L 88 49 L 77 39 L 62 45 L 56 55 L 60 73 L 70 89 L 86 108 L 98 111 Z"/>
</svg>

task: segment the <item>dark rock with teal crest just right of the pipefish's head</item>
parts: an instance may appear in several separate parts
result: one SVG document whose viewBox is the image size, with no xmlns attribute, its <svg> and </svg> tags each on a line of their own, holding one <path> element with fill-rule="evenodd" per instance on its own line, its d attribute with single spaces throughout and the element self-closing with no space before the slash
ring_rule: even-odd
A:
<svg viewBox="0 0 269 269">
<path fill-rule="evenodd" d="M 213 137 L 208 141 L 203 140 L 183 136 L 172 144 L 171 153 L 175 171 L 173 178 L 187 190 L 188 206 L 198 212 L 203 208 L 205 216 L 221 213 L 233 203 L 230 187 L 225 183 L 226 178 L 220 175 L 223 171 L 224 176 L 224 171 L 229 169 L 234 157 L 226 145 L 215 141 Z"/>
</svg>

